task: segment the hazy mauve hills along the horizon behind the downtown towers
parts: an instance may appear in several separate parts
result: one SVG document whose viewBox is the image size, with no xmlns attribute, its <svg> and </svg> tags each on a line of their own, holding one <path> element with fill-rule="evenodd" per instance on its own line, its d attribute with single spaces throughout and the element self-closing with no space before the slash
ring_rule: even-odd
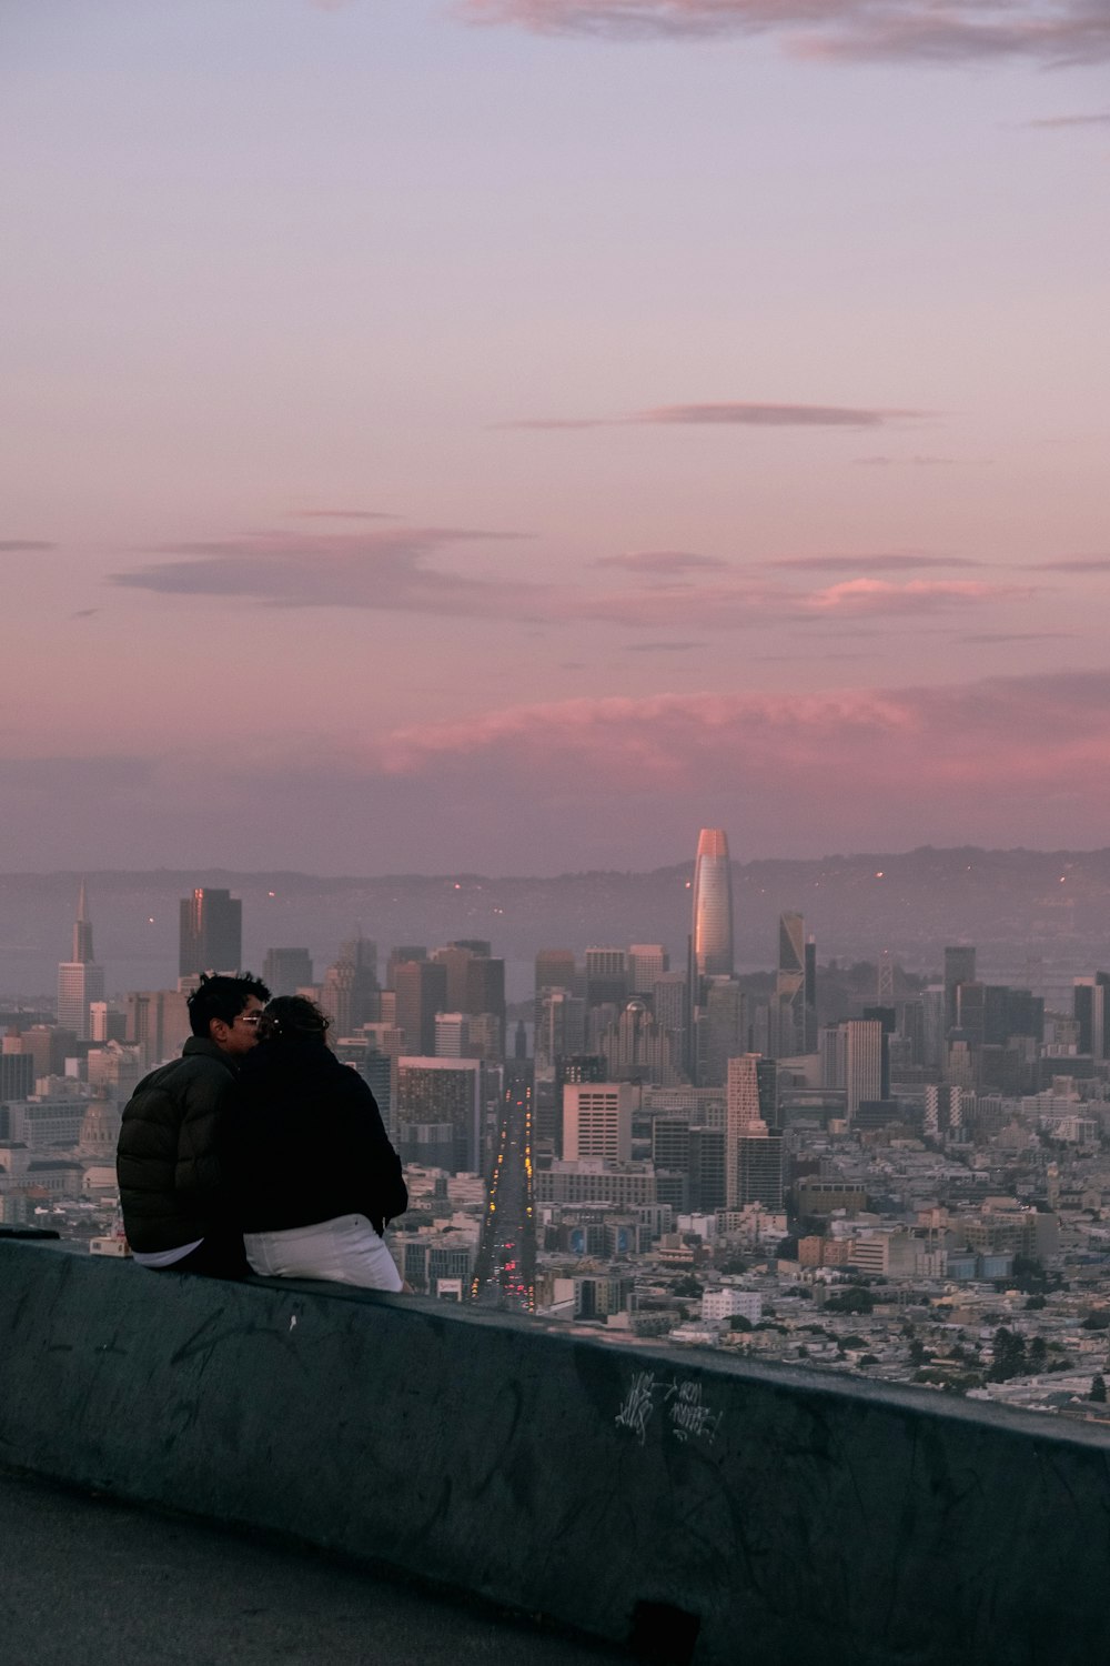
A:
<svg viewBox="0 0 1110 1666">
<path fill-rule="evenodd" d="M 644 873 L 586 871 L 544 880 L 458 876 L 348 876 L 296 873 L 93 871 L 98 958 L 111 990 L 173 983 L 180 901 L 195 886 L 231 886 L 243 900 L 241 960 L 260 970 L 270 950 L 308 953 L 295 983 L 336 971 L 351 941 L 373 923 L 376 941 L 473 943 L 474 933 L 506 961 L 508 993 L 519 998 L 544 945 L 554 963 L 591 946 L 629 945 L 671 955 L 667 976 L 686 978 L 696 863 Z M 0 993 L 32 1005 L 53 988 L 73 936 L 73 898 L 83 876 L 0 873 Z M 814 936 L 822 958 L 870 960 L 882 980 L 894 965 L 940 975 L 949 945 L 979 943 L 992 978 L 1055 986 L 1070 968 L 1090 968 L 1110 940 L 1110 850 L 930 850 L 812 863 L 732 863 L 736 968 L 782 973 L 784 915 L 805 905 L 804 958 L 810 985 Z M 779 953 L 776 956 L 776 943 Z M 373 945 L 371 945 L 373 946 Z M 553 965 L 549 981 L 566 983 Z M 654 975 L 652 975 L 654 976 Z M 270 981 L 266 978 L 266 981 Z M 280 981 L 288 981 L 281 975 Z M 807 1028 L 812 1020 L 805 1001 Z"/>
</svg>

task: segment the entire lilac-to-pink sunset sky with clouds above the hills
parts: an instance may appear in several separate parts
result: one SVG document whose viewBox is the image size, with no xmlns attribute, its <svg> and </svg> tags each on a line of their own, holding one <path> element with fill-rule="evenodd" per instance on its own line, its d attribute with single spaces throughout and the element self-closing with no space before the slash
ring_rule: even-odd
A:
<svg viewBox="0 0 1110 1666">
<path fill-rule="evenodd" d="M 5 0 L 7 870 L 1110 841 L 1105 0 Z"/>
</svg>

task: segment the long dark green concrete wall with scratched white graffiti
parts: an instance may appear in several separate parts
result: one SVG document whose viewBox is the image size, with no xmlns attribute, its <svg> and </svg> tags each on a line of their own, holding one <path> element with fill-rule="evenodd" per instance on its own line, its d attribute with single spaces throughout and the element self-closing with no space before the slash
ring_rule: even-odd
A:
<svg viewBox="0 0 1110 1666">
<path fill-rule="evenodd" d="M 1107 1659 L 1108 1453 L 925 1391 L 0 1241 L 2 1464 L 657 1659 Z"/>
</svg>

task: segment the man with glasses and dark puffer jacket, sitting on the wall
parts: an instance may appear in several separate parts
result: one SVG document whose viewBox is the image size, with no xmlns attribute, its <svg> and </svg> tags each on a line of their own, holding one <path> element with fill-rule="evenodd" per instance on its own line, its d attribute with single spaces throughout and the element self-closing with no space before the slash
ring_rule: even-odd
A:
<svg viewBox="0 0 1110 1666">
<path fill-rule="evenodd" d="M 243 1235 L 228 1223 L 220 1123 L 236 1065 L 256 1041 L 270 990 L 250 973 L 201 976 L 188 998 L 181 1058 L 143 1076 L 123 1111 L 116 1176 L 140 1266 L 245 1278 Z"/>
</svg>

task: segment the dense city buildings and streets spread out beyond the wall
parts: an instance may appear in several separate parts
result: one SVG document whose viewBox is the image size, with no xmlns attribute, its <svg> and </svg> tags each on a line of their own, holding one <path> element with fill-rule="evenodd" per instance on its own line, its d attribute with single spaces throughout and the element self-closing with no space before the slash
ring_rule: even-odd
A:
<svg viewBox="0 0 1110 1666">
<path fill-rule="evenodd" d="M 950 891 L 974 871 L 952 855 Z M 701 885 L 679 890 L 691 948 L 702 913 L 716 926 L 687 960 L 692 1006 L 666 943 L 594 935 L 581 955 L 536 951 L 534 1025 L 509 1043 L 506 961 L 476 923 L 439 946 L 409 931 L 383 981 L 393 931 L 379 946 L 356 925 L 298 991 L 320 1000 L 408 1170 L 391 1253 L 413 1293 L 1105 1423 L 1105 933 L 1078 956 L 1070 938 L 1050 993 L 1040 960 L 1000 975 L 967 936 L 924 976 L 889 951 L 819 961 L 790 910 L 777 966 L 729 976 L 707 963 L 731 936 L 726 863 L 726 831 L 702 828 Z M 1057 885 L 1083 876 L 1065 866 Z M 854 870 L 855 896 L 865 878 Z M 47 1218 L 121 1258 L 115 1140 L 140 1078 L 188 1046 L 193 978 L 90 1001 L 100 895 L 82 878 L 57 1006 L 3 1013 L 0 1225 Z M 183 960 L 203 941 L 226 965 L 241 901 L 206 885 L 176 896 Z M 253 893 L 263 915 L 270 901 L 288 925 L 278 891 Z M 270 961 L 313 976 L 306 946 Z"/>
</svg>

